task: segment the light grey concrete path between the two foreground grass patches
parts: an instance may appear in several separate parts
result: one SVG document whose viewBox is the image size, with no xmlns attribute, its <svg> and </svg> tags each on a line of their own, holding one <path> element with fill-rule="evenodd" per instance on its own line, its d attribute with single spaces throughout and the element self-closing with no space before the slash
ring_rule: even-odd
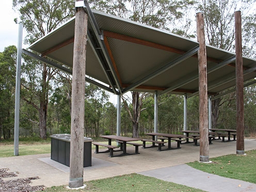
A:
<svg viewBox="0 0 256 192">
<path fill-rule="evenodd" d="M 194 169 L 186 164 L 138 172 L 138 174 L 170 181 L 209 192 L 255 192 L 256 184 L 224 178 Z"/>
</svg>

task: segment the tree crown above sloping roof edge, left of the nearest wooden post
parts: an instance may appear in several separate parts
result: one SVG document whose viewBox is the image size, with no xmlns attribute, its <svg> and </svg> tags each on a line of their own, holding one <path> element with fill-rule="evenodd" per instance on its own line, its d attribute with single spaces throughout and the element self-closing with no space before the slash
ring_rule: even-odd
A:
<svg viewBox="0 0 256 192">
<path fill-rule="evenodd" d="M 13 0 L 12 5 L 20 12 L 20 22 L 28 32 L 29 43 L 50 33 L 74 15 L 74 5 L 69 0 Z"/>
</svg>

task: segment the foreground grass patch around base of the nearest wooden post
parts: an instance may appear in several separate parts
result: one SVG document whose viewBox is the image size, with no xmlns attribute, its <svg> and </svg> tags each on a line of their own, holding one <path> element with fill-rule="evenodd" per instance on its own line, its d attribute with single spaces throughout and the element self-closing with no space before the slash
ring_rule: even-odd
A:
<svg viewBox="0 0 256 192">
<path fill-rule="evenodd" d="M 86 188 L 79 189 L 77 191 L 98 191 L 98 192 L 161 192 L 161 191 L 203 191 L 196 188 L 187 187 L 185 185 L 179 185 L 151 177 L 147 177 L 140 174 L 125 174 L 120 175 L 113 178 L 107 179 L 100 179 L 100 180 L 93 180 L 88 181 L 86 183 Z M 74 191 L 67 189 L 66 186 L 57 186 L 57 187 L 50 187 L 46 188 L 45 191 L 47 192 L 66 192 L 66 191 Z"/>
</svg>

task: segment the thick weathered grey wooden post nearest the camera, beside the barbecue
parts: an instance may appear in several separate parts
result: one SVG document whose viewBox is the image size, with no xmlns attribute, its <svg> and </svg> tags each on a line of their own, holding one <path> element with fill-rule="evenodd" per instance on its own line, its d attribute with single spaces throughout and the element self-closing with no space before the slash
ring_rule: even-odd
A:
<svg viewBox="0 0 256 192">
<path fill-rule="evenodd" d="M 84 119 L 85 119 L 85 60 L 87 14 L 76 8 L 72 79 L 71 142 L 69 187 L 83 186 Z"/>
</svg>

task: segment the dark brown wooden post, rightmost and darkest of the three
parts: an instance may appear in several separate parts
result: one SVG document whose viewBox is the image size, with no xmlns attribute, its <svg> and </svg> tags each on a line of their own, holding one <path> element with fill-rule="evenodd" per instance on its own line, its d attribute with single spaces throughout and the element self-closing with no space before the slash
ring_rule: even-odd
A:
<svg viewBox="0 0 256 192">
<path fill-rule="evenodd" d="M 235 11 L 236 154 L 245 154 L 241 11 Z"/>
</svg>

